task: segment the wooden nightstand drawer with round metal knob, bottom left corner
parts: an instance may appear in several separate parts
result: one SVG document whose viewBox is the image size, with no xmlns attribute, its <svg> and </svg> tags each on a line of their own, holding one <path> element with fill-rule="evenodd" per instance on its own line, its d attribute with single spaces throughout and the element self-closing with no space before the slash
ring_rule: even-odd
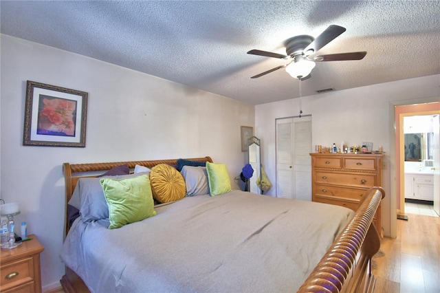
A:
<svg viewBox="0 0 440 293">
<path fill-rule="evenodd" d="M 34 278 L 34 260 L 32 257 L 28 257 L 1 265 L 0 275 L 1 292 L 8 290 L 10 287 L 32 282 Z"/>
</svg>

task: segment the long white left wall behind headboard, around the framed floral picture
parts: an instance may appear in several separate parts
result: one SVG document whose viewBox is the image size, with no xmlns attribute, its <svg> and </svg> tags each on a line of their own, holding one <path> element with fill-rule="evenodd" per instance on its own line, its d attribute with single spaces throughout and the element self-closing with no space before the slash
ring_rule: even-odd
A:
<svg viewBox="0 0 440 293">
<path fill-rule="evenodd" d="M 89 93 L 85 148 L 22 145 L 26 80 Z M 1 198 L 19 202 L 17 223 L 45 246 L 46 290 L 64 274 L 63 162 L 210 155 L 232 184 L 247 162 L 240 126 L 254 125 L 254 106 L 243 102 L 3 34 L 0 84 Z"/>
</svg>

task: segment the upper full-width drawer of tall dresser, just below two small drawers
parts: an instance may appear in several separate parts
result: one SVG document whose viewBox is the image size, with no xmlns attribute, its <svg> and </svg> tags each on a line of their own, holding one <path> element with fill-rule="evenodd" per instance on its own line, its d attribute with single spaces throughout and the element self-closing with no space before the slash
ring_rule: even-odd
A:
<svg viewBox="0 0 440 293">
<path fill-rule="evenodd" d="M 375 175 L 356 174 L 356 173 L 332 173 L 316 171 L 314 180 L 316 183 L 336 184 L 344 186 L 355 186 L 370 188 L 376 186 Z"/>
</svg>

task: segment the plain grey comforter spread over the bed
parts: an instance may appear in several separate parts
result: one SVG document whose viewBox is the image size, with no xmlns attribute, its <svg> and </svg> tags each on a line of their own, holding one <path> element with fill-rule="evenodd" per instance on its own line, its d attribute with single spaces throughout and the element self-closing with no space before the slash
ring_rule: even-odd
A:
<svg viewBox="0 0 440 293">
<path fill-rule="evenodd" d="M 61 258 L 91 292 L 295 292 L 353 217 L 242 191 L 155 210 L 113 230 L 78 218 Z"/>
</svg>

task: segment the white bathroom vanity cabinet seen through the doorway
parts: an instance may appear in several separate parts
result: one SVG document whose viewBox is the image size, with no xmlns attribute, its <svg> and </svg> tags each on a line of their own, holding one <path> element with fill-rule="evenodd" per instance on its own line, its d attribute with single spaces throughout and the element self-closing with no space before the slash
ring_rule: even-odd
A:
<svg viewBox="0 0 440 293">
<path fill-rule="evenodd" d="M 434 200 L 434 175 L 405 174 L 405 198 Z"/>
</svg>

